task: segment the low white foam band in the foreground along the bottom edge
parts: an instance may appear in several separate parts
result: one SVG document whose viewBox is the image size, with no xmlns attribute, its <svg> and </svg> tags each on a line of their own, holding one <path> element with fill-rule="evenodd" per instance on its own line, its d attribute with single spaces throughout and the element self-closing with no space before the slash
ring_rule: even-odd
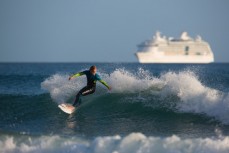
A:
<svg viewBox="0 0 229 153">
<path fill-rule="evenodd" d="M 228 153 L 229 137 L 182 139 L 170 137 L 147 137 L 141 133 L 131 133 L 126 137 L 106 136 L 86 141 L 79 138 L 60 136 L 1 136 L 0 152 L 77 152 L 77 153 Z"/>
</svg>

